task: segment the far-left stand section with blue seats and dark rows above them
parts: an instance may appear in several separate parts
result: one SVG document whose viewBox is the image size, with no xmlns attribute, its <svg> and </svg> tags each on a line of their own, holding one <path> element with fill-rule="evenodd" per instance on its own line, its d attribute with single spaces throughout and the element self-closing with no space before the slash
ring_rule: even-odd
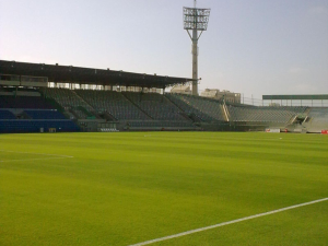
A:
<svg viewBox="0 0 328 246">
<path fill-rule="evenodd" d="M 0 93 L 0 132 L 79 131 L 35 90 L 2 89 Z"/>
</svg>

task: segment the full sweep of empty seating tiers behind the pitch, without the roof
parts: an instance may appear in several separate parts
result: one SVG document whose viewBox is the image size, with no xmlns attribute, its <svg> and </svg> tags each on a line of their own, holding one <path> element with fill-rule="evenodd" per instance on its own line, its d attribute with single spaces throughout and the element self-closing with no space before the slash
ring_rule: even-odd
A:
<svg viewBox="0 0 328 246">
<path fill-rule="evenodd" d="M 0 87 L 0 132 L 116 131 L 104 124 L 125 130 L 258 130 L 300 126 L 300 115 L 312 132 L 328 128 L 327 108 L 225 105 L 183 94 Z"/>
</svg>

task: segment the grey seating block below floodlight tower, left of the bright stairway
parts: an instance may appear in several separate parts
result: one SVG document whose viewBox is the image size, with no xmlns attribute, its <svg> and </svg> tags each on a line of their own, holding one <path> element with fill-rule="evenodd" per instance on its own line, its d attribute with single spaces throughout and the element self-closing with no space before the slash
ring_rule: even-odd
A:
<svg viewBox="0 0 328 246">
<path fill-rule="evenodd" d="M 187 114 L 195 114 L 203 121 L 225 121 L 222 105 L 219 102 L 181 94 L 166 94 L 166 97 Z"/>
</svg>

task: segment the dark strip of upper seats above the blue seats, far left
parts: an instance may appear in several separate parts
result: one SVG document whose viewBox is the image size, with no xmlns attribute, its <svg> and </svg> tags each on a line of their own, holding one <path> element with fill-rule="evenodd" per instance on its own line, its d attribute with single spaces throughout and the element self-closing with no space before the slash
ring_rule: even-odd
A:
<svg viewBox="0 0 328 246">
<path fill-rule="evenodd" d="M 40 96 L 0 96 L 0 108 L 54 109 L 54 107 Z"/>
</svg>

